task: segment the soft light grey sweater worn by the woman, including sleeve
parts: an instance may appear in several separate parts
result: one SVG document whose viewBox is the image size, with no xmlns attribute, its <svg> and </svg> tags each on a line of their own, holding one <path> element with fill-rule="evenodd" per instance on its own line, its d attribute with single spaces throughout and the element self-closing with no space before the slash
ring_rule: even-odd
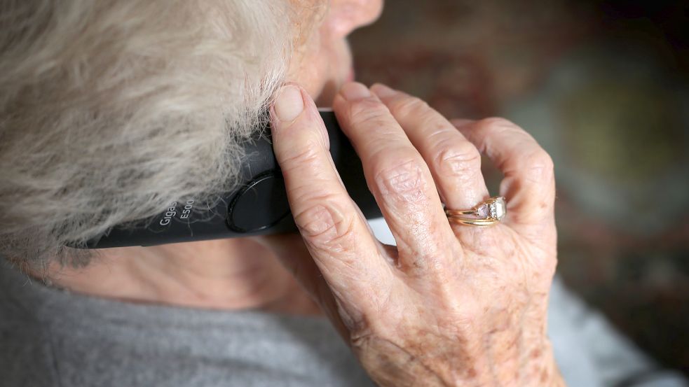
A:
<svg viewBox="0 0 689 387">
<path fill-rule="evenodd" d="M 558 281 L 550 337 L 570 386 L 686 386 Z M 373 384 L 324 318 L 104 300 L 0 262 L 0 386 Z"/>
</svg>

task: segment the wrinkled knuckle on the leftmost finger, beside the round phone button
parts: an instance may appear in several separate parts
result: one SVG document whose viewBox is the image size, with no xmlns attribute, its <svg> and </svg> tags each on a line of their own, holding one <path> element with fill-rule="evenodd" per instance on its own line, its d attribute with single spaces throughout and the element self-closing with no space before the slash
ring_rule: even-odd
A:
<svg viewBox="0 0 689 387">
<path fill-rule="evenodd" d="M 321 197 L 317 201 L 332 203 L 334 198 Z M 343 215 L 332 204 L 309 206 L 296 214 L 294 220 L 304 239 L 316 248 L 342 251 L 348 242 L 355 240 L 355 218 Z"/>
</svg>

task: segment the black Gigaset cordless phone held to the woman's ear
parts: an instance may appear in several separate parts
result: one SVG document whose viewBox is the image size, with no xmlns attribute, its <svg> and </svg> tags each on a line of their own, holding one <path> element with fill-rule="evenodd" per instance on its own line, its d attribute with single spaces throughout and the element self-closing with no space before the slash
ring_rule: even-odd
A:
<svg viewBox="0 0 689 387">
<path fill-rule="evenodd" d="M 332 111 L 320 111 L 330 139 L 330 153 L 342 181 L 367 219 L 381 211 L 369 192 L 361 161 L 341 131 Z M 215 206 L 198 209 L 198 203 L 173 202 L 158 216 L 139 225 L 113 227 L 88 248 L 154 246 L 186 241 L 247 237 L 250 235 L 294 232 L 285 182 L 275 160 L 270 128 L 264 127 L 245 143 L 238 189 L 222 195 Z"/>
</svg>

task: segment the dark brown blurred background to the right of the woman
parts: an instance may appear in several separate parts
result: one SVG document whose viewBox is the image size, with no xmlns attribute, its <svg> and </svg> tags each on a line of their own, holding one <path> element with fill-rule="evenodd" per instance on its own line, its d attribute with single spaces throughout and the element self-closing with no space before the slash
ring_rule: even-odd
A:
<svg viewBox="0 0 689 387">
<path fill-rule="evenodd" d="M 351 42 L 363 83 L 531 132 L 556 166 L 559 274 L 689 374 L 686 26 L 686 1 L 388 0 Z"/>
</svg>

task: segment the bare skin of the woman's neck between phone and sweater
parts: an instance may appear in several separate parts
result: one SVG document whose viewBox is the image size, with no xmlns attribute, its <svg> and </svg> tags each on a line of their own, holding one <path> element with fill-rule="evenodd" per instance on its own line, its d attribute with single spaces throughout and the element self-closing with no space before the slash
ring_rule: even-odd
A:
<svg viewBox="0 0 689 387">
<path fill-rule="evenodd" d="M 108 248 L 83 268 L 50 267 L 50 281 L 127 302 L 318 314 L 273 253 L 250 239 Z"/>
</svg>

